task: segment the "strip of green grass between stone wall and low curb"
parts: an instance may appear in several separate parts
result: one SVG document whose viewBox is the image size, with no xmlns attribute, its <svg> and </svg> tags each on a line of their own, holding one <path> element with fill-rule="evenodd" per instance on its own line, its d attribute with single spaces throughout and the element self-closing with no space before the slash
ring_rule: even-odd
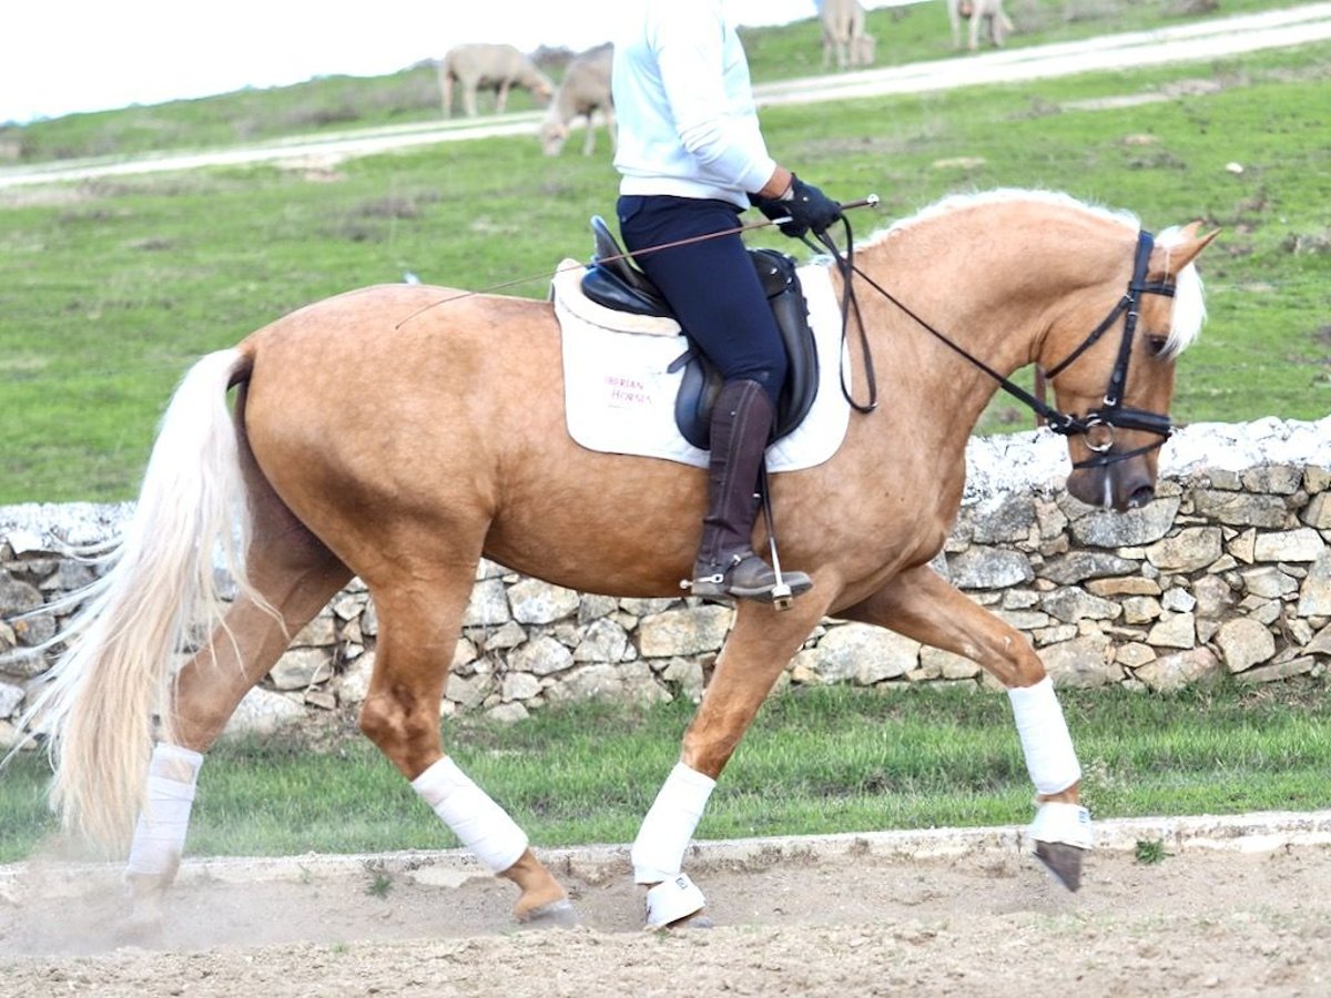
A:
<svg viewBox="0 0 1331 998">
<path fill-rule="evenodd" d="M 1097 817 L 1327 806 L 1327 681 L 1158 696 L 1063 691 Z M 688 704 L 582 703 L 519 725 L 445 724 L 445 745 L 538 848 L 628 842 L 673 765 Z M 0 861 L 53 830 L 33 753 L 0 780 Z M 773 697 L 727 768 L 699 838 L 985 826 L 1030 820 L 1006 697 L 847 687 Z M 363 739 L 314 750 L 224 743 L 208 758 L 193 856 L 439 849 L 457 842 Z M 387 885 L 381 888 L 387 890 Z"/>
</svg>

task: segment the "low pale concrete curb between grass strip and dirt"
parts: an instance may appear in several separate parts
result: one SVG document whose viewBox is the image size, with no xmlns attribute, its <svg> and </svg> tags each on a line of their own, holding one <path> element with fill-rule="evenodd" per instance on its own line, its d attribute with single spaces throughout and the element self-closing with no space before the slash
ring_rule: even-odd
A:
<svg viewBox="0 0 1331 998">
<path fill-rule="evenodd" d="M 1171 853 L 1221 850 L 1262 853 L 1331 845 L 1331 810 L 1201 814 L 1195 817 L 1111 818 L 1097 821 L 1095 849 L 1133 852 L 1138 842 L 1154 841 Z M 540 849 L 540 858 L 556 873 L 604 880 L 631 869 L 627 845 L 586 845 Z M 1020 856 L 1029 849 L 1025 826 L 936 828 L 827 836 L 779 836 L 695 842 L 684 864 L 691 872 L 747 865 L 757 869 L 780 862 L 811 862 L 845 856 L 885 860 L 948 860 L 973 856 Z M 463 849 L 405 850 L 393 853 L 282 857 L 220 857 L 186 860 L 177 884 L 260 884 L 329 881 L 377 874 L 430 886 L 453 888 L 488 869 Z M 51 896 L 75 896 L 95 882 L 114 882 L 120 864 L 60 864 L 29 861 L 0 866 L 0 898 L 21 904 L 25 886 L 40 880 Z"/>
</svg>

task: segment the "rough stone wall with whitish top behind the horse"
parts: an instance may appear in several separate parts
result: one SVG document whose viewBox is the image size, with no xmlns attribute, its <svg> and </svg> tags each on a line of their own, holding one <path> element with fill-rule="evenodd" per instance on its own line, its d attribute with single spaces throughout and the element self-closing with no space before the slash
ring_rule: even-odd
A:
<svg viewBox="0 0 1331 998">
<path fill-rule="evenodd" d="M 1157 498 L 1114 514 L 1062 490 L 1066 451 L 1047 434 L 976 438 L 968 494 L 934 562 L 1034 644 L 1054 683 L 1157 691 L 1231 673 L 1264 683 L 1331 661 L 1331 416 L 1181 431 Z M 92 580 L 57 536 L 105 540 L 129 506 L 0 508 L 0 743 L 47 668 L 24 655 L 56 633 L 40 607 Z M 587 697 L 701 695 L 731 611 L 689 599 L 578 593 L 482 562 L 446 712 L 520 720 Z M 20 616 L 25 611 L 39 612 Z M 229 732 L 354 711 L 374 663 L 375 615 L 343 589 L 249 693 Z M 996 687 L 968 659 L 864 624 L 824 620 L 791 661 L 792 684 Z"/>
</svg>

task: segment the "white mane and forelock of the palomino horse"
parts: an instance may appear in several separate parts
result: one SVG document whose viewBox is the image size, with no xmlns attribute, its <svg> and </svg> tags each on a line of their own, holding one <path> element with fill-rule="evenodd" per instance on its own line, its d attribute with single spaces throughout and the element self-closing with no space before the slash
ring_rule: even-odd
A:
<svg viewBox="0 0 1331 998">
<path fill-rule="evenodd" d="M 913 216 L 900 218 L 885 229 L 876 230 L 860 245 L 873 246 L 882 240 L 890 238 L 894 233 L 964 208 L 1010 204 L 1014 201 L 1034 201 L 1045 205 L 1057 205 L 1062 208 L 1073 208 L 1081 212 L 1089 212 L 1090 214 L 1114 222 L 1115 225 L 1122 225 L 1131 232 L 1138 232 L 1142 228 L 1141 220 L 1131 212 L 1105 208 L 1102 205 L 1090 205 L 1085 201 L 1078 201 L 1071 194 L 1058 190 L 998 188 L 996 190 L 984 190 L 969 194 L 948 194 L 938 201 L 934 201 L 932 205 L 920 209 Z M 1155 237 L 1155 242 L 1167 249 L 1181 242 L 1183 230 L 1179 226 L 1171 226 L 1159 233 L 1159 236 Z M 1202 295 L 1202 277 L 1197 273 L 1197 267 L 1189 263 L 1178 273 L 1174 289 L 1174 311 L 1170 321 L 1169 339 L 1165 342 L 1165 349 L 1161 351 L 1161 355 L 1165 358 L 1175 358 L 1183 353 L 1183 350 L 1186 350 L 1197 339 L 1198 334 L 1202 331 L 1202 323 L 1205 321 L 1206 302 Z"/>
</svg>

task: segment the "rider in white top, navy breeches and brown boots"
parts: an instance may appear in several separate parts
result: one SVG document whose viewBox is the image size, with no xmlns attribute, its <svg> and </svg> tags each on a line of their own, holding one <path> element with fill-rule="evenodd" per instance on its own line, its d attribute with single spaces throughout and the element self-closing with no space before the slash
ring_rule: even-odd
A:
<svg viewBox="0 0 1331 998">
<path fill-rule="evenodd" d="M 720 370 L 711 419 L 696 596 L 771 600 L 776 572 L 752 548 L 756 490 L 787 375 L 776 321 L 740 237 L 749 205 L 821 233 L 840 205 L 768 154 L 748 61 L 724 0 L 624 0 L 611 89 L 619 142 L 619 229 L 630 253 L 732 232 L 635 261 Z M 785 572 L 791 595 L 812 585 Z"/>
</svg>

